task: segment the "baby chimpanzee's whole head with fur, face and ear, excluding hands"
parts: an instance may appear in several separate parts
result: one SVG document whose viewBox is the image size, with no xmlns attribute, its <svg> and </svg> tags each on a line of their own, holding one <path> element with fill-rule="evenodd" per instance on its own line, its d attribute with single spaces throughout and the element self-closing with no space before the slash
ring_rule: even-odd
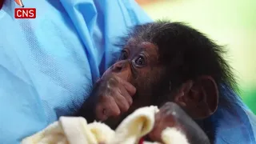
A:
<svg viewBox="0 0 256 144">
<path fill-rule="evenodd" d="M 221 83 L 235 86 L 222 46 L 180 22 L 134 26 L 120 43 L 120 58 L 103 76 L 115 74 L 136 87 L 127 114 L 176 102 L 192 118 L 207 118 L 217 110 Z"/>
</svg>

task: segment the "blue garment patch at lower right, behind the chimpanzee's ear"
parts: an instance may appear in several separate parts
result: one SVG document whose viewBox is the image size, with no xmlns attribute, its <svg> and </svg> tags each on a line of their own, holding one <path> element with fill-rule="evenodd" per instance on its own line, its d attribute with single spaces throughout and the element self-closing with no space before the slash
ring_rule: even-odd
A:
<svg viewBox="0 0 256 144">
<path fill-rule="evenodd" d="M 255 144 L 256 116 L 229 87 L 222 85 L 220 90 L 225 92 L 225 97 L 231 103 L 229 106 L 218 106 L 211 117 L 218 127 L 215 143 Z"/>
</svg>

